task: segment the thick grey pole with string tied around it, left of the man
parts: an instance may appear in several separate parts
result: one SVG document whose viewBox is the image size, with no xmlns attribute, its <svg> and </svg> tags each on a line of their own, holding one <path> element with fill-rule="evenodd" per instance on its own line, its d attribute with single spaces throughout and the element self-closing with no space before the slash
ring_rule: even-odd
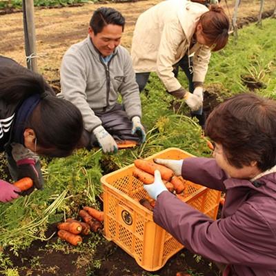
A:
<svg viewBox="0 0 276 276">
<path fill-rule="evenodd" d="M 23 26 L 27 67 L 37 72 L 37 48 L 34 28 L 34 1 L 23 0 Z"/>
</svg>

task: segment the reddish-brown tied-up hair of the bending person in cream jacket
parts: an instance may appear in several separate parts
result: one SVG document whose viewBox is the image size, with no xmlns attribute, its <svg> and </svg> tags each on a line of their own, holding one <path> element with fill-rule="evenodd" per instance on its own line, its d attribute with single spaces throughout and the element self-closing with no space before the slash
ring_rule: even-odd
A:
<svg viewBox="0 0 276 276">
<path fill-rule="evenodd" d="M 213 52 L 226 46 L 230 22 L 223 8 L 210 5 L 209 11 L 201 15 L 199 23 L 202 26 L 204 39 L 212 45 Z"/>
</svg>

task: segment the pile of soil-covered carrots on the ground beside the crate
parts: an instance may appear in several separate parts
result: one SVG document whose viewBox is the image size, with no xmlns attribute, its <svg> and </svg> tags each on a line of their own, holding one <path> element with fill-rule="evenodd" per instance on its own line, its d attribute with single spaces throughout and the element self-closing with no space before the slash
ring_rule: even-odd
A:
<svg viewBox="0 0 276 276">
<path fill-rule="evenodd" d="M 79 217 L 83 221 L 69 218 L 65 222 L 57 224 L 57 228 L 59 229 L 57 235 L 74 246 L 81 244 L 81 234 L 88 235 L 90 230 L 92 232 L 99 232 L 103 228 L 102 211 L 85 206 L 83 210 L 79 211 Z"/>
</svg>

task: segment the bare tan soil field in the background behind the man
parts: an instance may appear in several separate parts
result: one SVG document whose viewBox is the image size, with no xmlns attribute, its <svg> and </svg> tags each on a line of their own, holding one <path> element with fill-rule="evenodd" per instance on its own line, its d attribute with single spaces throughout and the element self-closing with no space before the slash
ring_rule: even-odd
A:
<svg viewBox="0 0 276 276">
<path fill-rule="evenodd" d="M 257 0 L 242 0 L 239 6 L 238 26 L 257 20 L 259 13 Z M 141 12 L 159 3 L 159 0 L 134 1 L 128 3 L 85 4 L 77 7 L 41 9 L 35 8 L 34 20 L 37 34 L 37 56 L 39 72 L 55 86 L 59 86 L 59 66 L 66 50 L 85 39 L 92 12 L 100 6 L 110 6 L 126 17 L 126 29 L 121 44 L 130 50 L 132 32 Z M 226 5 L 227 3 L 227 5 Z M 235 0 L 221 0 L 221 6 L 230 18 L 233 17 Z M 265 1 L 264 17 L 273 13 L 275 1 Z M 16 12 L 0 16 L 0 54 L 26 64 L 23 14 Z"/>
</svg>

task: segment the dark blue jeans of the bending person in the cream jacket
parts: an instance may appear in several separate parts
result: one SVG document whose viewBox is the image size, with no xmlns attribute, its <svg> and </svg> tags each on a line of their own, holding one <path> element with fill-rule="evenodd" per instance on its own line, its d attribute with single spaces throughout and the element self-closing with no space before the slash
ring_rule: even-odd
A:
<svg viewBox="0 0 276 276">
<path fill-rule="evenodd" d="M 190 72 L 189 68 L 189 62 L 188 59 L 190 59 L 190 66 L 193 66 L 193 57 L 188 57 L 187 55 L 184 55 L 182 59 L 180 59 L 174 66 L 172 72 L 175 74 L 175 77 L 178 75 L 179 71 L 179 66 L 180 68 L 184 71 L 188 82 L 189 82 L 189 91 L 193 93 L 194 91 L 194 84 L 193 84 L 193 72 Z M 136 73 L 136 82 L 138 83 L 139 86 L 139 92 L 144 90 L 146 83 L 148 82 L 148 78 L 150 77 L 150 72 L 142 72 L 142 73 Z M 201 107 L 199 110 L 193 111 L 193 115 L 202 115 L 203 113 L 203 108 Z"/>
</svg>

